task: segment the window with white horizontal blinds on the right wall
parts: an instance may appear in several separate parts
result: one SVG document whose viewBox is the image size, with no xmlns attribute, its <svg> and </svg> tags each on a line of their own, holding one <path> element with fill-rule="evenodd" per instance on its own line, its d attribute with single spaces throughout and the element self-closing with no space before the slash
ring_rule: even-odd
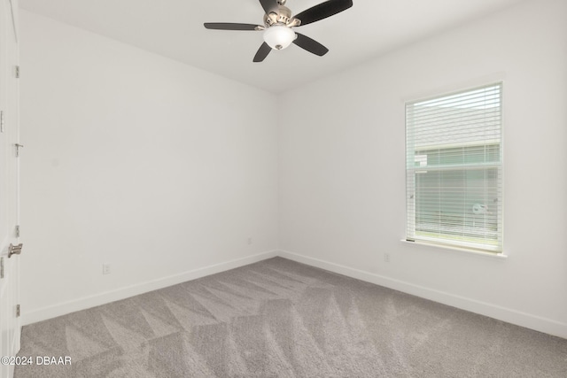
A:
<svg viewBox="0 0 567 378">
<path fill-rule="evenodd" d="M 409 241 L 502 251 L 501 90 L 406 104 Z"/>
</svg>

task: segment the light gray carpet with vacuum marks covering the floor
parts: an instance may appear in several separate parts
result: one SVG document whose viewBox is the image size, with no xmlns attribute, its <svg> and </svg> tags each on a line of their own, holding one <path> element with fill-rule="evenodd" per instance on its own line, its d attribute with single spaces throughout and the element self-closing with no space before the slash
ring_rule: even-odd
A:
<svg viewBox="0 0 567 378">
<path fill-rule="evenodd" d="M 23 328 L 24 377 L 567 377 L 567 340 L 284 258 Z"/>
</svg>

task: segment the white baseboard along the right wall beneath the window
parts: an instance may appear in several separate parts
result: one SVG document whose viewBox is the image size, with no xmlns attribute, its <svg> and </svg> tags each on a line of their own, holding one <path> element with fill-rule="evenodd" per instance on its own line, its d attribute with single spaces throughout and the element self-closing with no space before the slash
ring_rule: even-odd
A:
<svg viewBox="0 0 567 378">
<path fill-rule="evenodd" d="M 277 255 L 282 258 L 288 258 L 299 263 L 307 264 L 308 266 L 319 267 L 330 272 L 343 274 L 361 281 L 375 283 L 377 285 L 384 286 L 385 288 L 399 290 L 416 297 L 430 299 L 434 302 L 450 305 L 469 312 L 475 312 L 493 319 L 506 321 L 507 323 L 515 324 L 517 326 L 531 328 L 549 335 L 567 338 L 567 323 L 543 318 L 531 313 L 520 312 L 511 308 L 502 307 L 501 305 L 489 304 L 468 297 L 455 296 L 454 294 L 444 291 L 426 288 L 414 283 L 403 282 L 380 274 L 372 274 L 318 258 L 310 258 L 290 251 L 278 251 Z"/>
</svg>

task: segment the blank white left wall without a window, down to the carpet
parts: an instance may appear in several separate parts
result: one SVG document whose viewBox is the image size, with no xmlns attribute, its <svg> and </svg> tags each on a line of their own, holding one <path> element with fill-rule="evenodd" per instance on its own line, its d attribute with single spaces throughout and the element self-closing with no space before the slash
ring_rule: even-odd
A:
<svg viewBox="0 0 567 378">
<path fill-rule="evenodd" d="M 30 12 L 20 30 L 25 323 L 274 255 L 274 95 Z"/>
</svg>

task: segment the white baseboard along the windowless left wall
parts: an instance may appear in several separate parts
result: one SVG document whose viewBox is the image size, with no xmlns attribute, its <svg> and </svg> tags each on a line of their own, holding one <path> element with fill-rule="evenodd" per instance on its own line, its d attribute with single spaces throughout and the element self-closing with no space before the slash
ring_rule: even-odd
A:
<svg viewBox="0 0 567 378">
<path fill-rule="evenodd" d="M 120 299 L 144 294 L 152 290 L 167 288 L 167 286 L 195 280 L 210 274 L 221 273 L 239 266 L 246 266 L 267 258 L 274 258 L 276 256 L 277 251 L 262 252 L 245 258 L 237 258 L 220 264 L 214 264 L 212 266 L 200 267 L 181 274 L 174 274 L 164 278 L 159 278 L 157 280 L 136 283 L 135 285 L 106 291 L 94 296 L 82 297 L 72 301 L 59 303 L 57 305 L 46 306 L 32 312 L 24 312 L 22 314 L 22 326 L 26 326 L 27 324 L 32 324 L 37 321 L 55 318 L 70 312 L 85 310 L 97 305 L 105 305 Z"/>
</svg>

